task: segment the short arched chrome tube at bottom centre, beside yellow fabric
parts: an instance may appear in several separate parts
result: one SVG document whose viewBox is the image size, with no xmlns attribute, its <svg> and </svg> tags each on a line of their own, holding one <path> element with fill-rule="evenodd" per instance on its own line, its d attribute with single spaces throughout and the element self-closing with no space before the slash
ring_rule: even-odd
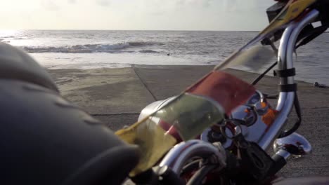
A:
<svg viewBox="0 0 329 185">
<path fill-rule="evenodd" d="M 160 167 L 167 165 L 176 172 L 176 174 L 179 174 L 183 165 L 185 165 L 189 159 L 196 156 L 205 158 L 215 156 L 214 160 L 223 161 L 225 161 L 226 158 L 220 153 L 220 150 L 216 146 L 208 142 L 194 139 L 188 142 L 181 142 L 174 146 L 174 148 L 164 156 L 160 163 Z"/>
</svg>

